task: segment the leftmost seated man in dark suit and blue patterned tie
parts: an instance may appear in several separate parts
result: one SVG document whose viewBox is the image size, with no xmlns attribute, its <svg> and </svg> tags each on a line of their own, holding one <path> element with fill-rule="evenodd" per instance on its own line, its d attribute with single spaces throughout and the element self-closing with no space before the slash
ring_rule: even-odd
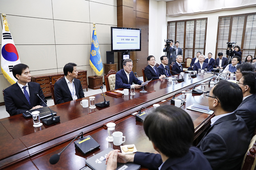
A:
<svg viewBox="0 0 256 170">
<path fill-rule="evenodd" d="M 30 70 L 27 65 L 15 65 L 12 74 L 18 81 L 4 90 L 5 108 L 10 116 L 25 113 L 30 109 L 46 107 L 41 101 L 43 99 L 45 103 L 47 102 L 40 84 L 31 82 Z M 38 92 L 41 99 L 34 94 L 35 92 Z"/>
</svg>

